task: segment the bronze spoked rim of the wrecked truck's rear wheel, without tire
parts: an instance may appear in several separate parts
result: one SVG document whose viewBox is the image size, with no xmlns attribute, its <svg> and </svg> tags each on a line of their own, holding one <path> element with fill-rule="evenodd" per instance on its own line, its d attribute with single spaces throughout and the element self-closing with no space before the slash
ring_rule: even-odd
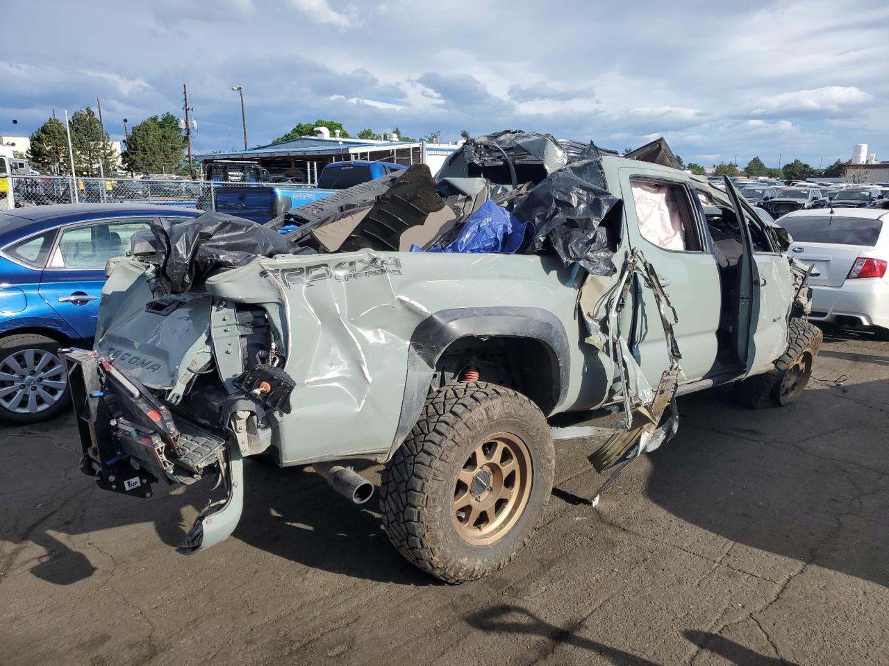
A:
<svg viewBox="0 0 889 666">
<path fill-rule="evenodd" d="M 522 438 L 497 432 L 479 441 L 457 472 L 451 519 L 466 543 L 487 545 L 522 517 L 531 495 L 531 453 Z"/>
</svg>

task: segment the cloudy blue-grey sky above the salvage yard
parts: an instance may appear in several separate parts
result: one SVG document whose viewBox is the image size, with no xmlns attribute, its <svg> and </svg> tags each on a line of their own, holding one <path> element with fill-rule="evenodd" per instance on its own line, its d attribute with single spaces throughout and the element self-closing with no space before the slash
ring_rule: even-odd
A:
<svg viewBox="0 0 889 666">
<path fill-rule="evenodd" d="M 686 163 L 889 160 L 889 3 L 525 0 L 41 0 L 4 6 L 0 134 L 95 108 L 112 139 L 198 121 L 196 153 L 296 123 L 547 131 L 622 150 L 664 136 Z M 18 121 L 13 124 L 12 120 Z"/>
</svg>

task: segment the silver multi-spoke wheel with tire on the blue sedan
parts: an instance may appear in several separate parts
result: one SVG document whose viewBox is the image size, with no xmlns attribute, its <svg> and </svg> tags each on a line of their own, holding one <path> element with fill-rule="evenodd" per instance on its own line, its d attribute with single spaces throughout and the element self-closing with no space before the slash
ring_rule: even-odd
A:
<svg viewBox="0 0 889 666">
<path fill-rule="evenodd" d="M 71 400 L 59 343 L 31 333 L 0 339 L 0 419 L 33 424 L 58 415 Z"/>
</svg>

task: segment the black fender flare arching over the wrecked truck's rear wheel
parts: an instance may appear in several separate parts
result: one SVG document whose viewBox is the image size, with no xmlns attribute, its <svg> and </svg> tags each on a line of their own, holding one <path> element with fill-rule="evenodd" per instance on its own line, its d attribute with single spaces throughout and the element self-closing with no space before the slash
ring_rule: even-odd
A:
<svg viewBox="0 0 889 666">
<path fill-rule="evenodd" d="M 550 363 L 558 369 L 553 387 L 553 405 L 565 400 L 571 374 L 571 358 L 565 326 L 558 317 L 540 307 L 460 307 L 440 310 L 420 321 L 413 330 L 407 352 L 404 397 L 395 438 L 387 460 L 411 432 L 426 402 L 436 363 L 450 345 L 461 337 L 525 337 L 540 341 L 548 350 Z"/>
</svg>

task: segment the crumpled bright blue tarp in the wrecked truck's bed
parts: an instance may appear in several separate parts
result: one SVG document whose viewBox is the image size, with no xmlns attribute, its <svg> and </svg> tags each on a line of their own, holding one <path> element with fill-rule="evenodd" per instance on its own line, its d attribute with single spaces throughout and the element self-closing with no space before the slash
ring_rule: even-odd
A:
<svg viewBox="0 0 889 666">
<path fill-rule="evenodd" d="M 436 245 L 427 252 L 448 252 L 458 254 L 500 252 L 515 254 L 525 243 L 528 223 L 520 222 L 506 210 L 492 201 L 486 201 L 469 216 L 460 234 L 447 245 Z M 412 252 L 422 252 L 422 248 L 412 245 Z"/>
</svg>

